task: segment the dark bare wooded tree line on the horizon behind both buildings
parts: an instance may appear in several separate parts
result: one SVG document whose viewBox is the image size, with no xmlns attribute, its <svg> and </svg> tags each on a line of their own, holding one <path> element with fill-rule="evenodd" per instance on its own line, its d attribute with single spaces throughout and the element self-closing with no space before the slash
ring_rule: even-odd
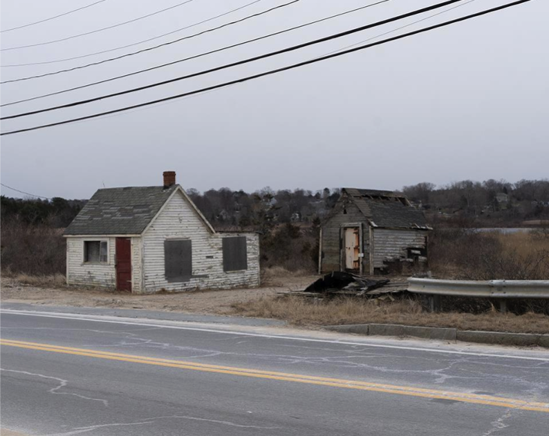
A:
<svg viewBox="0 0 549 436">
<path fill-rule="evenodd" d="M 421 182 L 401 189 L 411 202 L 424 209 L 427 216 L 465 215 L 485 220 L 517 222 L 549 219 L 549 180 L 462 180 L 440 187 Z M 286 223 L 319 222 L 333 208 L 340 189 L 318 191 L 266 187 L 247 193 L 229 188 L 210 189 L 201 193 L 187 189 L 187 194 L 213 225 L 221 229 L 240 227 L 268 232 Z M 1 196 L 1 219 L 27 225 L 66 227 L 86 204 L 86 200 L 52 198 L 10 198 Z"/>
</svg>

